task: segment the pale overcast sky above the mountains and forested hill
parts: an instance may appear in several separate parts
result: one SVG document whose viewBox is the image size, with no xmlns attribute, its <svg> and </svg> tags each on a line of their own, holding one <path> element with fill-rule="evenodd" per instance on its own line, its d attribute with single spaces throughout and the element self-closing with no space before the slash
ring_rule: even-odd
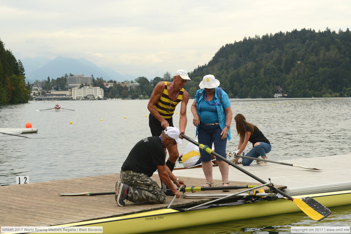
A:
<svg viewBox="0 0 351 234">
<path fill-rule="evenodd" d="M 245 36 L 345 31 L 350 12 L 350 0 L 0 0 L 0 39 L 16 59 L 84 58 L 150 80 Z"/>
</svg>

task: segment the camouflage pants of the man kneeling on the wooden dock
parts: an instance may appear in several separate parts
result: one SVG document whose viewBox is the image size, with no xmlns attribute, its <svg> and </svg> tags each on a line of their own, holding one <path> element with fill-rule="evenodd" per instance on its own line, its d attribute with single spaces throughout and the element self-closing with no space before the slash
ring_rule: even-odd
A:
<svg viewBox="0 0 351 234">
<path fill-rule="evenodd" d="M 156 181 L 146 174 L 121 171 L 121 182 L 129 185 L 128 201 L 135 203 L 164 203 L 166 195 Z"/>
</svg>

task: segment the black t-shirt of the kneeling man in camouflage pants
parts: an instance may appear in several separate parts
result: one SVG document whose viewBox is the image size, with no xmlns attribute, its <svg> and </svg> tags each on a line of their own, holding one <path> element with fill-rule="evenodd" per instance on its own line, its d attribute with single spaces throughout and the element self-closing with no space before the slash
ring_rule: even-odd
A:
<svg viewBox="0 0 351 234">
<path fill-rule="evenodd" d="M 158 136 L 150 136 L 132 148 L 121 171 L 139 172 L 151 177 L 157 170 L 156 165 L 165 165 L 165 149 Z"/>
</svg>

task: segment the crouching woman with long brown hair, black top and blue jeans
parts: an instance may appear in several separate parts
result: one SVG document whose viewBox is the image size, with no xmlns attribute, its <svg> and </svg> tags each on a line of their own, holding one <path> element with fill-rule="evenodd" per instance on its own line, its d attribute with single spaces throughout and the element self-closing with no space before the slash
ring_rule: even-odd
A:
<svg viewBox="0 0 351 234">
<path fill-rule="evenodd" d="M 245 150 L 247 142 L 251 142 L 253 148 L 249 153 L 246 154 L 248 157 L 258 158 L 261 156 L 263 159 L 267 159 L 266 154 L 269 153 L 272 149 L 271 143 L 269 140 L 263 135 L 260 129 L 246 121 L 244 115 L 237 114 L 234 117 L 235 123 L 237 125 L 237 132 L 240 136 L 238 151 L 237 154 L 241 155 L 241 153 Z M 236 158 L 235 164 L 238 163 L 239 158 Z M 249 166 L 253 160 L 251 159 L 243 159 L 243 166 Z M 266 162 L 257 161 L 260 166 L 265 166 Z"/>
</svg>

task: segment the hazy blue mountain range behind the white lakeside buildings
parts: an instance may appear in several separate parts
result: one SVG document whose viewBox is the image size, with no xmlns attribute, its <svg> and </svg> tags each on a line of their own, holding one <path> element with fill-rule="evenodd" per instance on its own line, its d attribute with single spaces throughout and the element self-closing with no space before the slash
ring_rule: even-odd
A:
<svg viewBox="0 0 351 234">
<path fill-rule="evenodd" d="M 25 68 L 26 82 L 34 83 L 35 80 L 57 79 L 66 73 L 73 75 L 94 75 L 94 78 L 102 77 L 104 80 L 125 81 L 134 80 L 132 75 L 121 75 L 111 68 L 98 67 L 86 59 L 72 59 L 57 56 L 50 60 L 44 57 L 27 58 L 21 60 Z"/>
</svg>

